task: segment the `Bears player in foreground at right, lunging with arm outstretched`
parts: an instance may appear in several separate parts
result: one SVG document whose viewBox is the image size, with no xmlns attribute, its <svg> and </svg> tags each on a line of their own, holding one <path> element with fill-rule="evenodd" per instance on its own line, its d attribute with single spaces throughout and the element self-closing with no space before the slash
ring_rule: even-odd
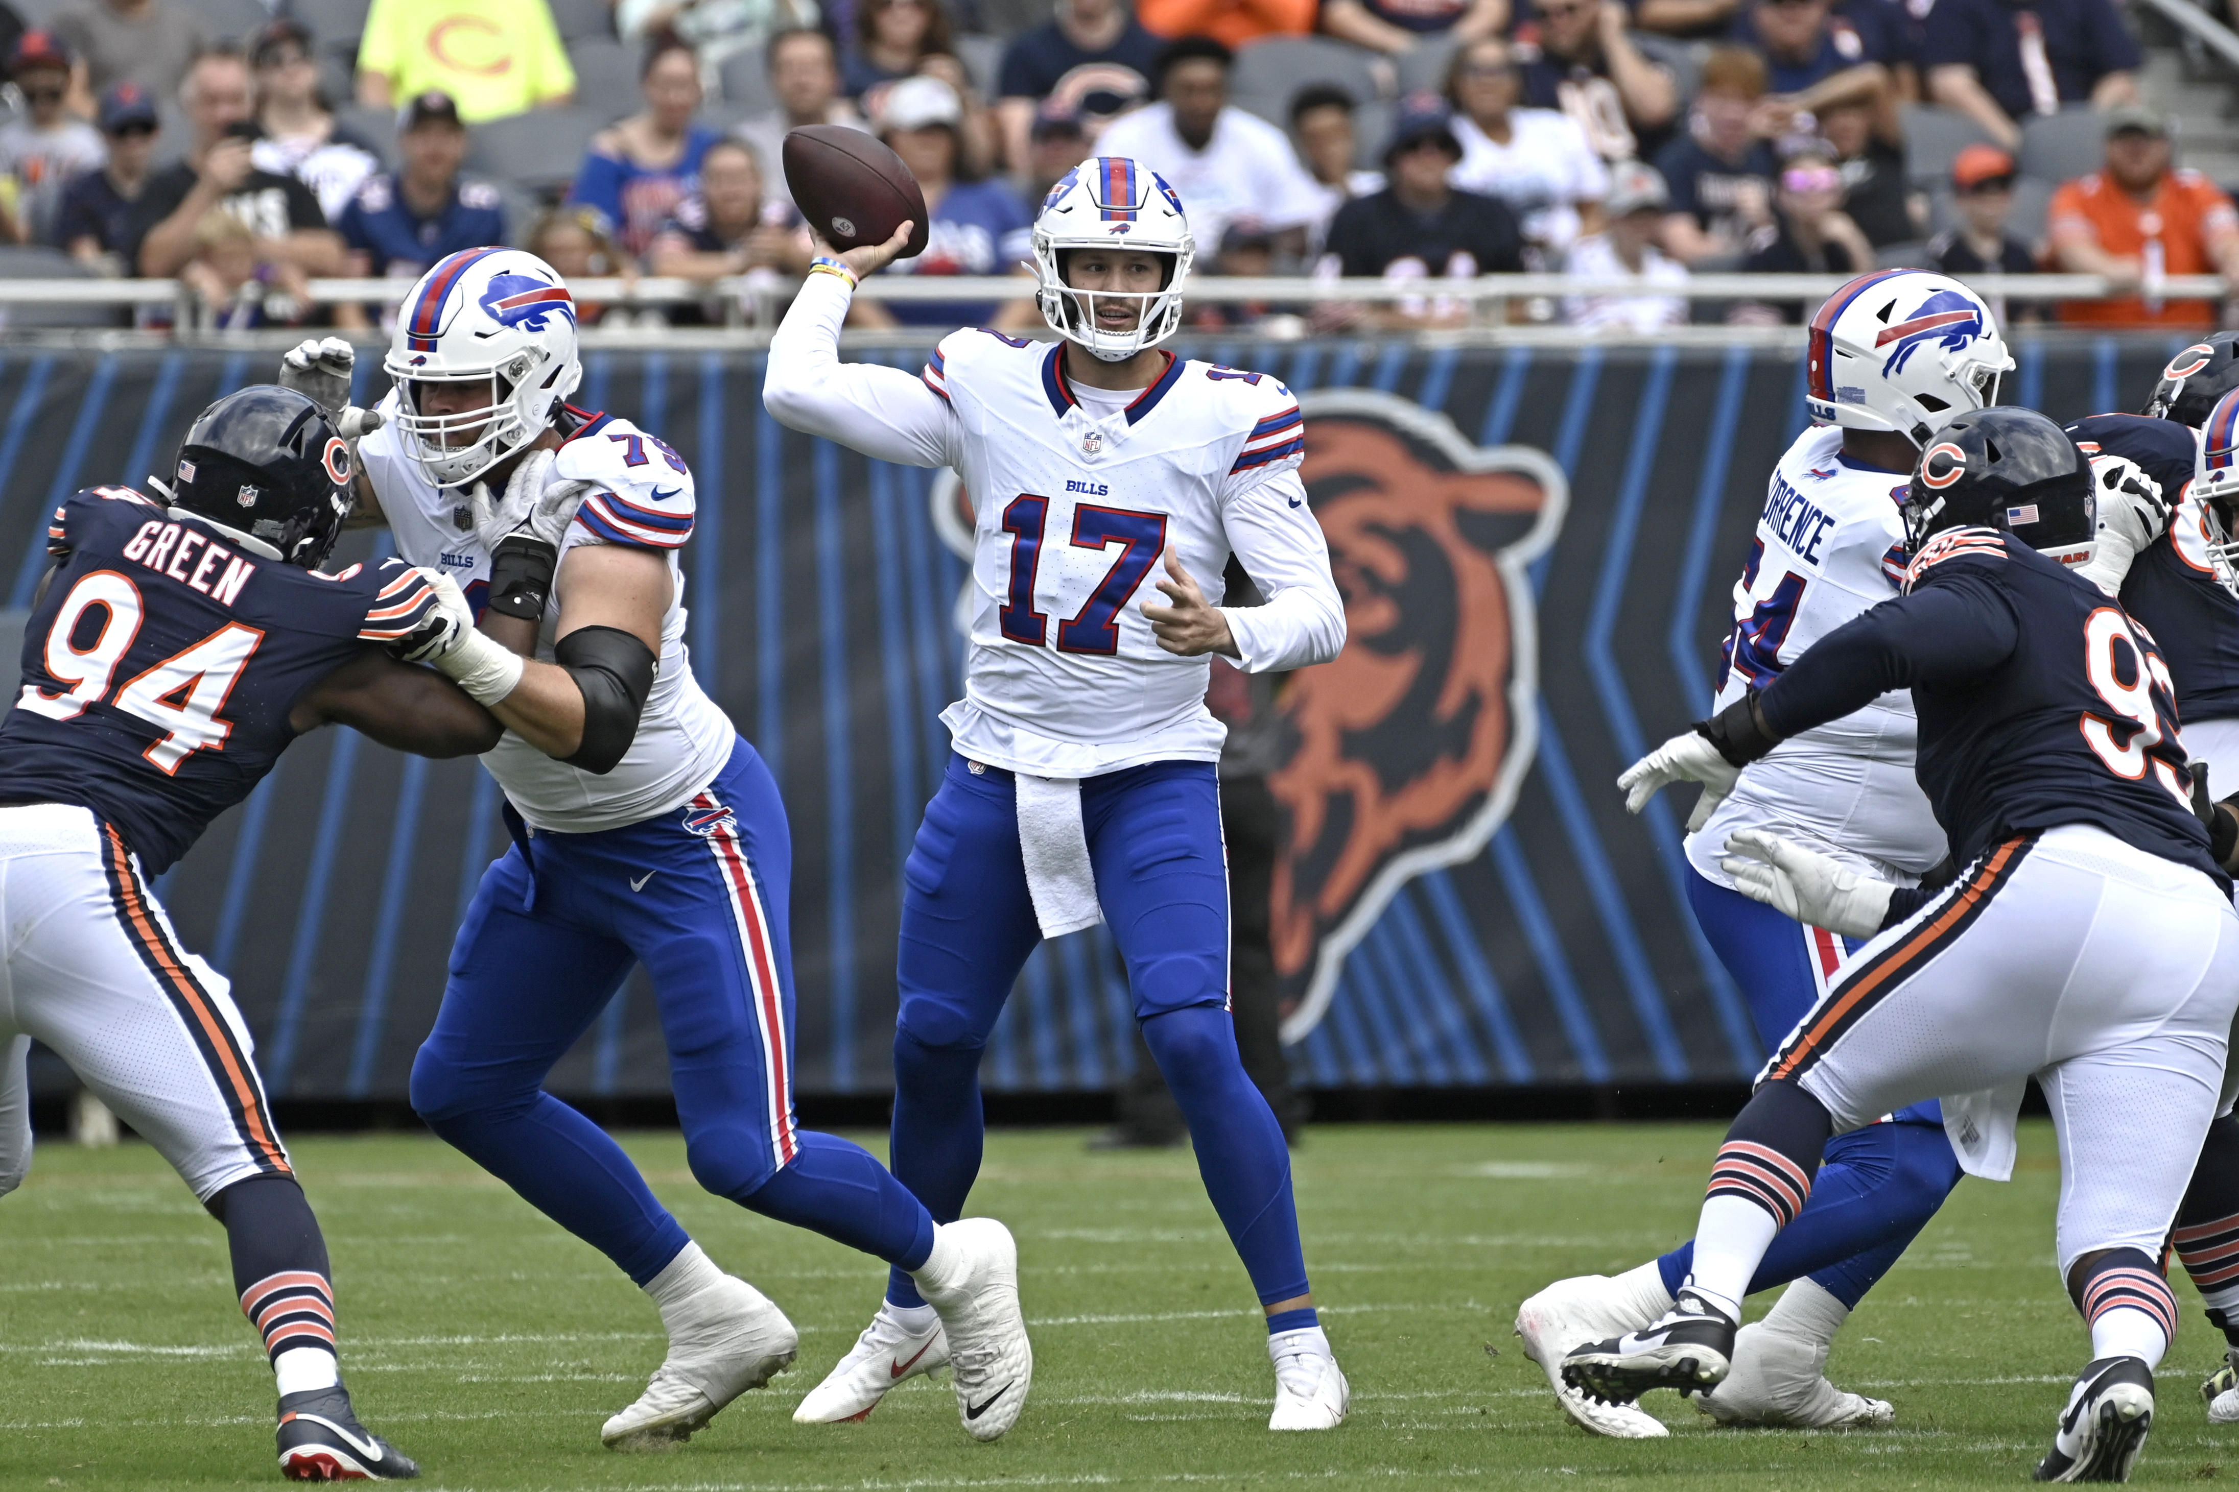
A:
<svg viewBox="0 0 2239 1492">
<path fill-rule="evenodd" d="M 2176 1331 L 2158 1250 L 2228 1107 L 2230 877 L 2192 812 L 2167 667 L 2062 564 L 2085 561 L 2093 535 L 2073 438 L 2026 409 L 1952 421 L 1914 468 L 1905 523 L 1903 597 L 1628 778 L 1726 787 L 1780 740 L 1910 687 L 1919 778 L 1966 870 L 1943 890 L 1903 890 L 1778 834 L 1729 841 L 1724 868 L 1744 893 L 1872 942 L 1729 1130 L 1675 1309 L 1574 1349 L 1565 1376 L 1605 1398 L 1715 1385 L 1746 1282 L 1809 1199 L 1832 1130 L 1943 1094 L 1968 1168 L 1999 1177 L 2035 1076 L 2060 1141 L 2060 1271 L 2091 1331 L 2037 1479 L 2123 1481 Z M 2136 1143 L 2140 1123 L 2154 1145 Z"/>
</svg>

